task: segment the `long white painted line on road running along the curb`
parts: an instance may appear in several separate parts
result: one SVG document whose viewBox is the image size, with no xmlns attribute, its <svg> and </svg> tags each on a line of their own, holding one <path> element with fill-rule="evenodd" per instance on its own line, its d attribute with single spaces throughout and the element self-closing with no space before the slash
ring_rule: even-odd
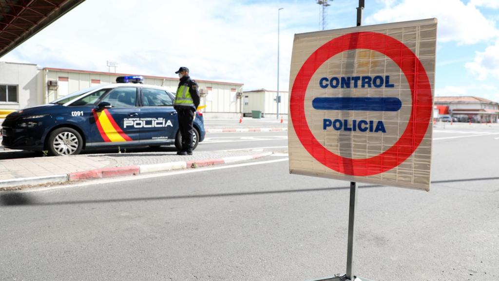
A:
<svg viewBox="0 0 499 281">
<path fill-rule="evenodd" d="M 178 174 L 184 174 L 184 173 L 194 173 L 194 172 L 203 172 L 203 171 L 212 171 L 212 170 L 239 168 L 239 167 L 253 166 L 253 165 L 271 164 L 271 163 L 276 163 L 276 162 L 287 161 L 288 159 L 289 158 L 281 158 L 281 159 L 274 159 L 274 160 L 267 160 L 267 161 L 256 161 L 256 162 L 234 164 L 234 165 L 226 165 L 226 166 L 215 166 L 215 167 L 195 168 L 195 169 L 183 169 L 183 170 L 171 171 L 171 172 L 161 172 L 161 173 L 152 173 L 152 174 L 139 174 L 139 175 L 126 176 L 126 177 L 116 177 L 116 178 L 106 178 L 106 179 L 94 179 L 94 180 L 89 180 L 89 181 L 85 181 L 85 182 L 70 183 L 70 184 L 64 184 L 64 185 L 58 185 L 58 186 L 51 186 L 51 187 L 41 187 L 41 188 L 33 187 L 33 188 L 19 190 L 19 191 L 13 191 L 13 192 L 51 191 L 51 190 L 54 190 L 54 189 L 61 189 L 61 188 L 80 187 L 80 186 L 96 185 L 96 184 L 107 184 L 107 183 L 123 182 L 123 181 L 129 181 L 129 180 L 140 180 L 140 179 L 161 177 L 161 176 L 172 176 L 172 175 L 178 175 Z"/>
</svg>

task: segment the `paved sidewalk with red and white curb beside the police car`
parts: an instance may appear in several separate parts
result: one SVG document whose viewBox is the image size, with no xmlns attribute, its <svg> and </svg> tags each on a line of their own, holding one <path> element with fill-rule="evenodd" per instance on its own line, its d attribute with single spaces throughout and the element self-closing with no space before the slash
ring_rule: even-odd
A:
<svg viewBox="0 0 499 281">
<path fill-rule="evenodd" d="M 272 152 L 243 150 L 199 151 L 191 156 L 179 156 L 174 151 L 155 151 L 5 159 L 0 160 L 0 188 L 201 167 L 270 154 Z"/>
</svg>

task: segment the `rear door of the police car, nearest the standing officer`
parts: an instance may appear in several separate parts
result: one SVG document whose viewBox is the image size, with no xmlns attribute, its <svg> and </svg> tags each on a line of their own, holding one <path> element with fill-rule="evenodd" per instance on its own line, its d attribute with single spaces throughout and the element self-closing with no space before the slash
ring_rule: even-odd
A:
<svg viewBox="0 0 499 281">
<path fill-rule="evenodd" d="M 171 142 L 178 130 L 177 111 L 172 97 L 162 89 L 141 89 L 140 117 L 144 126 L 140 130 L 141 142 Z"/>
</svg>

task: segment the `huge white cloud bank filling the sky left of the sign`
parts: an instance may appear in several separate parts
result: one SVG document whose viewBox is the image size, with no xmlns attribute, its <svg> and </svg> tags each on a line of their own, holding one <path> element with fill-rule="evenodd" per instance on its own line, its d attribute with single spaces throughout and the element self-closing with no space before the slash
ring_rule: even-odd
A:
<svg viewBox="0 0 499 281">
<path fill-rule="evenodd" d="M 286 90 L 293 35 L 318 25 L 313 2 L 87 0 L 2 60 L 98 71 L 114 60 L 118 72 L 173 77 L 188 66 L 195 79 L 275 89 L 278 7 Z"/>
</svg>

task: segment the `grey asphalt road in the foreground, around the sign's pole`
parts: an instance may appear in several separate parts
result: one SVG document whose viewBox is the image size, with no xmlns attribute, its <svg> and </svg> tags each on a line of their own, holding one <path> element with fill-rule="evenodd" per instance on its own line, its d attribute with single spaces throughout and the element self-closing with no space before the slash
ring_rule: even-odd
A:
<svg viewBox="0 0 499 281">
<path fill-rule="evenodd" d="M 499 131 L 470 131 L 436 129 L 430 192 L 360 184 L 357 275 L 499 280 Z M 0 193 L 0 279 L 344 273 L 349 183 L 290 175 L 285 156 L 250 164 Z"/>
</svg>

